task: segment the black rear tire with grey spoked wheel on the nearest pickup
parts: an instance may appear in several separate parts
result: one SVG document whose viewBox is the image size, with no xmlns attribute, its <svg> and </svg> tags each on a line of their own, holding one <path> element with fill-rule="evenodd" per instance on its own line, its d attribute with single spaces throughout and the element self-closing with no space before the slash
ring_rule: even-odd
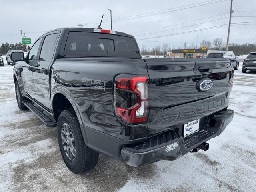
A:
<svg viewBox="0 0 256 192">
<path fill-rule="evenodd" d="M 70 129 L 70 133 L 68 136 L 64 134 L 63 126 L 68 125 Z M 82 136 L 82 132 L 80 129 L 80 124 L 78 122 L 78 118 L 76 117 L 76 113 L 73 109 L 63 110 L 60 113 L 58 118 L 58 143 L 60 147 L 60 152 L 62 154 L 62 158 L 69 168 L 70 171 L 76 174 L 81 174 L 83 172 L 87 172 L 94 168 L 98 163 L 99 153 L 92 150 L 84 143 L 84 139 Z M 72 134 L 72 135 L 71 135 Z M 72 137 L 71 137 L 72 136 Z M 65 138 L 66 137 L 66 138 Z M 65 139 L 64 139 L 65 138 Z M 68 139 L 74 138 L 71 142 L 69 140 L 69 149 L 68 147 Z M 67 142 L 62 144 L 62 139 Z M 66 154 L 64 147 L 67 149 L 67 152 L 70 154 L 70 158 L 68 158 L 68 154 Z M 75 152 L 75 156 L 72 158 L 71 148 L 73 148 L 73 152 Z M 75 151 L 74 151 L 75 149 Z"/>
</svg>

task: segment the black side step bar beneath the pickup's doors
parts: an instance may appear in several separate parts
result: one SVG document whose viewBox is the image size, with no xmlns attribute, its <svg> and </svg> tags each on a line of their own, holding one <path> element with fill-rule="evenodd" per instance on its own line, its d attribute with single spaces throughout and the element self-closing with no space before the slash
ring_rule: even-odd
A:
<svg viewBox="0 0 256 192">
<path fill-rule="evenodd" d="M 24 101 L 23 104 L 48 127 L 56 127 L 56 123 L 53 122 L 46 114 L 40 111 L 36 106 L 34 106 L 30 101 Z"/>
</svg>

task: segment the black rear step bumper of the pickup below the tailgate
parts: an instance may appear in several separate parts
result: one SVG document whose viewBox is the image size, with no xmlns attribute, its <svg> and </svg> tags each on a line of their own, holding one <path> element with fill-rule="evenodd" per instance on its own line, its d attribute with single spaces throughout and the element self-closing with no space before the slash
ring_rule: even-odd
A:
<svg viewBox="0 0 256 192">
<path fill-rule="evenodd" d="M 204 128 L 191 136 L 183 138 L 172 130 L 148 138 L 134 146 L 121 150 L 122 162 L 141 167 L 159 160 L 176 160 L 200 144 L 220 135 L 231 122 L 233 110 L 222 110 L 208 116 Z"/>
</svg>

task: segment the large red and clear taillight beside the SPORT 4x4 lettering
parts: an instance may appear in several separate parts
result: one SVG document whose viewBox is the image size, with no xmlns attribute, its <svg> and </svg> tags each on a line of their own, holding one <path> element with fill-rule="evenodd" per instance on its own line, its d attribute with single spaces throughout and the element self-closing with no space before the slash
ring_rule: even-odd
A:
<svg viewBox="0 0 256 192">
<path fill-rule="evenodd" d="M 116 88 L 137 95 L 136 103 L 128 108 L 115 105 L 117 115 L 127 123 L 146 122 L 149 104 L 148 78 L 146 76 L 118 78 Z M 131 98 L 128 98 L 128 100 L 131 100 Z"/>
</svg>

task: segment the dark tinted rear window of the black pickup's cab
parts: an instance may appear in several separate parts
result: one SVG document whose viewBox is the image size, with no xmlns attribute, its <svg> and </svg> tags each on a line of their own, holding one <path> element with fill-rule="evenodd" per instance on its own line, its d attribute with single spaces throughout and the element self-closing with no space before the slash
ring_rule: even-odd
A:
<svg viewBox="0 0 256 192">
<path fill-rule="evenodd" d="M 65 56 L 139 58 L 134 38 L 93 32 L 69 32 Z"/>
</svg>

